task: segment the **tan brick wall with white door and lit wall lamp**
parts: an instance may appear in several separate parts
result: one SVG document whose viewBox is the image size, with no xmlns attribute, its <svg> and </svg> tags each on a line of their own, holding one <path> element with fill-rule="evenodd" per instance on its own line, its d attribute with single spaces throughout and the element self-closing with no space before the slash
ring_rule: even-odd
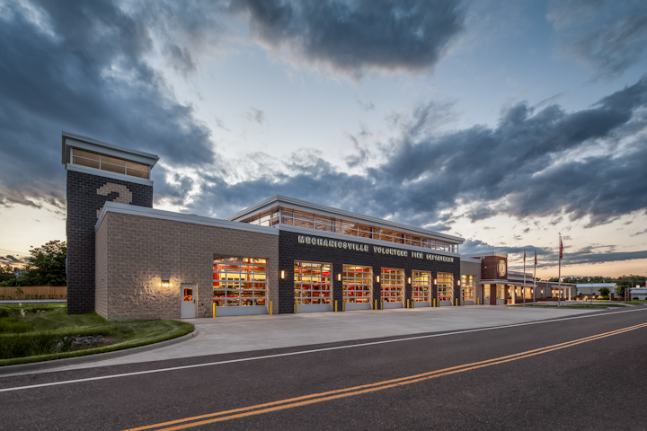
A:
<svg viewBox="0 0 647 431">
<path fill-rule="evenodd" d="M 268 300 L 278 306 L 278 235 L 109 212 L 96 240 L 97 268 L 107 256 L 105 279 L 96 276 L 97 312 L 108 319 L 178 319 L 182 283 L 197 284 L 196 315 L 210 317 L 214 255 L 267 259 Z"/>
</svg>

